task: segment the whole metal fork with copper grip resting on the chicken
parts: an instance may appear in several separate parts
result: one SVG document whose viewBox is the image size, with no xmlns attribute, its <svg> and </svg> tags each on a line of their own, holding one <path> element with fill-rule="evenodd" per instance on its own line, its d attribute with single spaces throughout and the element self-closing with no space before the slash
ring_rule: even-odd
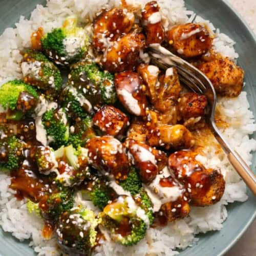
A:
<svg viewBox="0 0 256 256">
<path fill-rule="evenodd" d="M 180 80 L 186 84 L 186 86 L 188 86 L 192 91 L 203 94 L 207 97 L 208 105 L 205 120 L 209 125 L 211 132 L 220 143 L 223 151 L 226 153 L 229 162 L 232 164 L 234 169 L 237 170 L 241 178 L 255 196 L 256 178 L 254 173 L 245 163 L 242 157 L 230 147 L 229 143 L 221 135 L 215 124 L 214 116 L 217 96 L 214 86 L 212 86 L 210 80 L 200 70 L 177 55 L 161 47 L 159 44 L 152 44 L 148 54 L 150 54 L 152 63 L 161 69 L 165 70 L 169 67 L 175 67 L 178 71 Z"/>
</svg>

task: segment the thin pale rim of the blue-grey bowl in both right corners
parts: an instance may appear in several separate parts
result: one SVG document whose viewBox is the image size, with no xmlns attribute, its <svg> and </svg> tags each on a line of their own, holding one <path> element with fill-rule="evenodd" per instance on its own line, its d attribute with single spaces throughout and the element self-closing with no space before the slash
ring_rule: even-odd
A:
<svg viewBox="0 0 256 256">
<path fill-rule="evenodd" d="M 227 8 L 229 8 L 234 15 L 236 15 L 241 22 L 243 23 L 244 27 L 246 28 L 247 32 L 251 35 L 251 37 L 254 39 L 255 45 L 256 45 L 256 34 L 252 31 L 252 29 L 250 28 L 249 24 L 246 22 L 246 20 L 244 19 L 244 17 L 236 10 L 236 8 L 234 8 L 231 3 L 228 0 L 221 0 Z M 248 222 L 246 223 L 246 225 L 243 227 L 243 229 L 237 234 L 237 236 L 228 244 L 228 246 L 226 248 L 224 248 L 219 254 L 218 256 L 222 256 L 224 255 L 228 250 L 230 250 L 237 242 L 238 240 L 243 236 L 244 232 L 248 229 L 248 227 L 251 225 L 251 223 L 253 222 L 253 220 L 256 217 L 256 209 L 254 211 L 254 214 L 251 216 L 251 218 L 248 220 Z"/>
</svg>

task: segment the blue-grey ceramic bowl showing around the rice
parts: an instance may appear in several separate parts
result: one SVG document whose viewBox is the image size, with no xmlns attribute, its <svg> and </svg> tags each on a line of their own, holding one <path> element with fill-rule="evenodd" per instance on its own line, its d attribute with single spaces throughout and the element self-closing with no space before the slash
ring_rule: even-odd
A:
<svg viewBox="0 0 256 256">
<path fill-rule="evenodd" d="M 166 0 L 168 1 L 168 0 Z M 239 65 L 245 70 L 245 81 L 250 109 L 256 116 L 256 37 L 244 20 L 227 3 L 222 0 L 185 0 L 189 10 L 211 20 L 215 27 L 229 35 L 237 42 L 236 50 L 240 55 Z M 1 0 L 0 1 L 0 34 L 5 28 L 12 27 L 20 15 L 29 17 L 37 4 L 44 0 Z M 256 134 L 253 136 L 256 138 Z M 253 156 L 252 169 L 256 169 L 256 154 Z M 233 203 L 227 206 L 228 218 L 221 231 L 201 234 L 199 242 L 180 253 L 181 256 L 216 256 L 223 255 L 241 237 L 256 215 L 256 201 L 248 191 L 249 199 L 245 203 Z M 22 220 L 20 220 L 22 221 Z M 10 234 L 0 229 L 0 254 L 5 256 L 34 255 L 28 242 L 20 243 Z"/>
</svg>

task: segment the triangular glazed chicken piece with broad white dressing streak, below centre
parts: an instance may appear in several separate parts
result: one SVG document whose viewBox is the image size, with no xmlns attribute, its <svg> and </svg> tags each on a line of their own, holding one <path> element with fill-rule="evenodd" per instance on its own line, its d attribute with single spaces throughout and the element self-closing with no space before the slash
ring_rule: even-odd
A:
<svg viewBox="0 0 256 256">
<path fill-rule="evenodd" d="M 139 169 L 139 176 L 144 183 L 153 181 L 159 170 L 166 166 L 167 157 L 164 152 L 134 140 L 126 140 L 125 144 L 132 156 L 132 163 Z"/>
</svg>

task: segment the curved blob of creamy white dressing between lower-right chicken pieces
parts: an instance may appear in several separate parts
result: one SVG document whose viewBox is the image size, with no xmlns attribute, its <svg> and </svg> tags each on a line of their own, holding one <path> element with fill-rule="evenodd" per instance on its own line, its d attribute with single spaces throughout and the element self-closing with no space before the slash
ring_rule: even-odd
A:
<svg viewBox="0 0 256 256">
<path fill-rule="evenodd" d="M 151 189 L 152 193 L 157 194 L 161 204 L 167 202 L 174 202 L 176 201 L 184 192 L 184 189 L 180 186 L 173 186 L 173 187 L 162 187 L 159 184 L 159 181 L 162 178 L 168 178 L 170 176 L 170 172 L 167 167 L 164 167 L 162 170 L 162 174 L 158 174 L 153 180 L 153 182 L 148 185 L 148 188 Z"/>
</svg>

